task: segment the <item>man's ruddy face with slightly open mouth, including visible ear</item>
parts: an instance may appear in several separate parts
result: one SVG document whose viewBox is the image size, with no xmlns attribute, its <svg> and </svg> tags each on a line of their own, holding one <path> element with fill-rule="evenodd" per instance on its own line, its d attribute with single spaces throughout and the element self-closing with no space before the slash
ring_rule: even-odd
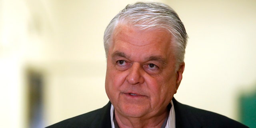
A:
<svg viewBox="0 0 256 128">
<path fill-rule="evenodd" d="M 171 38 L 163 29 L 116 27 L 107 55 L 105 83 L 115 114 L 153 117 L 166 112 L 184 70 L 184 63 L 175 70 Z"/>
</svg>

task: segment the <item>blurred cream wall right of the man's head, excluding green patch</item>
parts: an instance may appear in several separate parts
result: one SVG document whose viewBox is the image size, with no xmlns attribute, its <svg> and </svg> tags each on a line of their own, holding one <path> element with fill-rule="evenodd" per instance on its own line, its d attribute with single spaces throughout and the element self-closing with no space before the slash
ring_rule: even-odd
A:
<svg viewBox="0 0 256 128">
<path fill-rule="evenodd" d="M 172 0 L 189 40 L 176 98 L 238 120 L 240 94 L 255 93 L 256 1 Z"/>
</svg>

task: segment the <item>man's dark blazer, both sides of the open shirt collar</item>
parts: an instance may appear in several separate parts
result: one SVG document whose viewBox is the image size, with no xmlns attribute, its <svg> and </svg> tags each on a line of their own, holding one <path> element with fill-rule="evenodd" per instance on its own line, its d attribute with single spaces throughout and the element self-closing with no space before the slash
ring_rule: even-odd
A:
<svg viewBox="0 0 256 128">
<path fill-rule="evenodd" d="M 247 126 L 214 112 L 201 110 L 172 99 L 176 128 L 248 128 Z M 63 120 L 46 128 L 111 128 L 110 106 Z"/>
</svg>

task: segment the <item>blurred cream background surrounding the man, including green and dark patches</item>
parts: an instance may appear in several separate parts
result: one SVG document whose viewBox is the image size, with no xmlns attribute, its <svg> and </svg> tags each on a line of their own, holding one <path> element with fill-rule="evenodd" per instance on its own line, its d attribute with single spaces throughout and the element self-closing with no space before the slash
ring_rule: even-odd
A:
<svg viewBox="0 0 256 128">
<path fill-rule="evenodd" d="M 256 1 L 155 0 L 189 40 L 174 97 L 256 127 Z M 0 127 L 42 128 L 108 102 L 103 33 L 135 0 L 0 0 Z"/>
</svg>

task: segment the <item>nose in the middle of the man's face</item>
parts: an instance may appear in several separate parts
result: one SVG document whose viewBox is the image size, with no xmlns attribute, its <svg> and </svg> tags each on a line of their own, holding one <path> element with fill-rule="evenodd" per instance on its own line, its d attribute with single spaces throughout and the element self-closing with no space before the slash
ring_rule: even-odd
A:
<svg viewBox="0 0 256 128">
<path fill-rule="evenodd" d="M 144 78 L 142 77 L 142 72 L 143 72 L 143 69 L 140 66 L 140 64 L 134 63 L 132 64 L 129 70 L 129 74 L 126 77 L 126 80 L 128 81 L 128 83 L 132 85 L 143 83 Z"/>
</svg>

